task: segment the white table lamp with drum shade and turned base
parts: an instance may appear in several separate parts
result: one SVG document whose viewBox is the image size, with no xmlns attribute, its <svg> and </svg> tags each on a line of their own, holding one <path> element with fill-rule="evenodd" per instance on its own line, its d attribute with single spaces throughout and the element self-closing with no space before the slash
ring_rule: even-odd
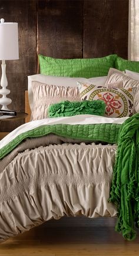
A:
<svg viewBox="0 0 139 256">
<path fill-rule="evenodd" d="M 9 105 L 12 100 L 7 98 L 6 95 L 10 93 L 10 90 L 6 89 L 8 86 L 8 81 L 6 78 L 6 64 L 5 60 L 18 60 L 18 23 L 16 22 L 4 22 L 1 19 L 0 22 L 0 60 L 2 60 L 2 76 L 1 76 L 1 87 L 0 94 L 0 104 L 2 105 L 2 110 L 9 110 L 7 105 Z"/>
</svg>

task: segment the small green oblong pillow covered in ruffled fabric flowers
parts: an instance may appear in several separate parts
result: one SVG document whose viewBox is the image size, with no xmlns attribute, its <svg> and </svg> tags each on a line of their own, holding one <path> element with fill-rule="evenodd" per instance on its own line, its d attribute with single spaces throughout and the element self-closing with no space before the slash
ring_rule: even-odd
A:
<svg viewBox="0 0 139 256">
<path fill-rule="evenodd" d="M 48 117 L 76 116 L 77 114 L 104 116 L 105 107 L 103 100 L 61 101 L 49 106 Z"/>
</svg>

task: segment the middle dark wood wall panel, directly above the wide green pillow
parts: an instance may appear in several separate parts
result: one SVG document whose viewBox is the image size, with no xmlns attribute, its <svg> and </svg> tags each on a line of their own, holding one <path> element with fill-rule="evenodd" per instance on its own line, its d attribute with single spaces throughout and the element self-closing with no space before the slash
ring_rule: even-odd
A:
<svg viewBox="0 0 139 256">
<path fill-rule="evenodd" d="M 38 1 L 38 53 L 82 58 L 82 1 Z"/>
</svg>

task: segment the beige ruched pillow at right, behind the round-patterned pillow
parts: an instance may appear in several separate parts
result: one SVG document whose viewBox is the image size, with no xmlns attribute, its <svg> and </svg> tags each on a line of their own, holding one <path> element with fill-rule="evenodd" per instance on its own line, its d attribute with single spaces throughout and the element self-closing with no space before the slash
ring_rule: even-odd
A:
<svg viewBox="0 0 139 256">
<path fill-rule="evenodd" d="M 114 72 L 110 76 L 108 76 L 105 84 L 115 83 L 116 81 L 123 81 L 124 88 L 135 87 L 136 93 L 134 97 L 134 107 L 135 111 L 139 113 L 139 81 L 125 76 L 124 74 L 120 74 L 119 72 Z"/>
</svg>

